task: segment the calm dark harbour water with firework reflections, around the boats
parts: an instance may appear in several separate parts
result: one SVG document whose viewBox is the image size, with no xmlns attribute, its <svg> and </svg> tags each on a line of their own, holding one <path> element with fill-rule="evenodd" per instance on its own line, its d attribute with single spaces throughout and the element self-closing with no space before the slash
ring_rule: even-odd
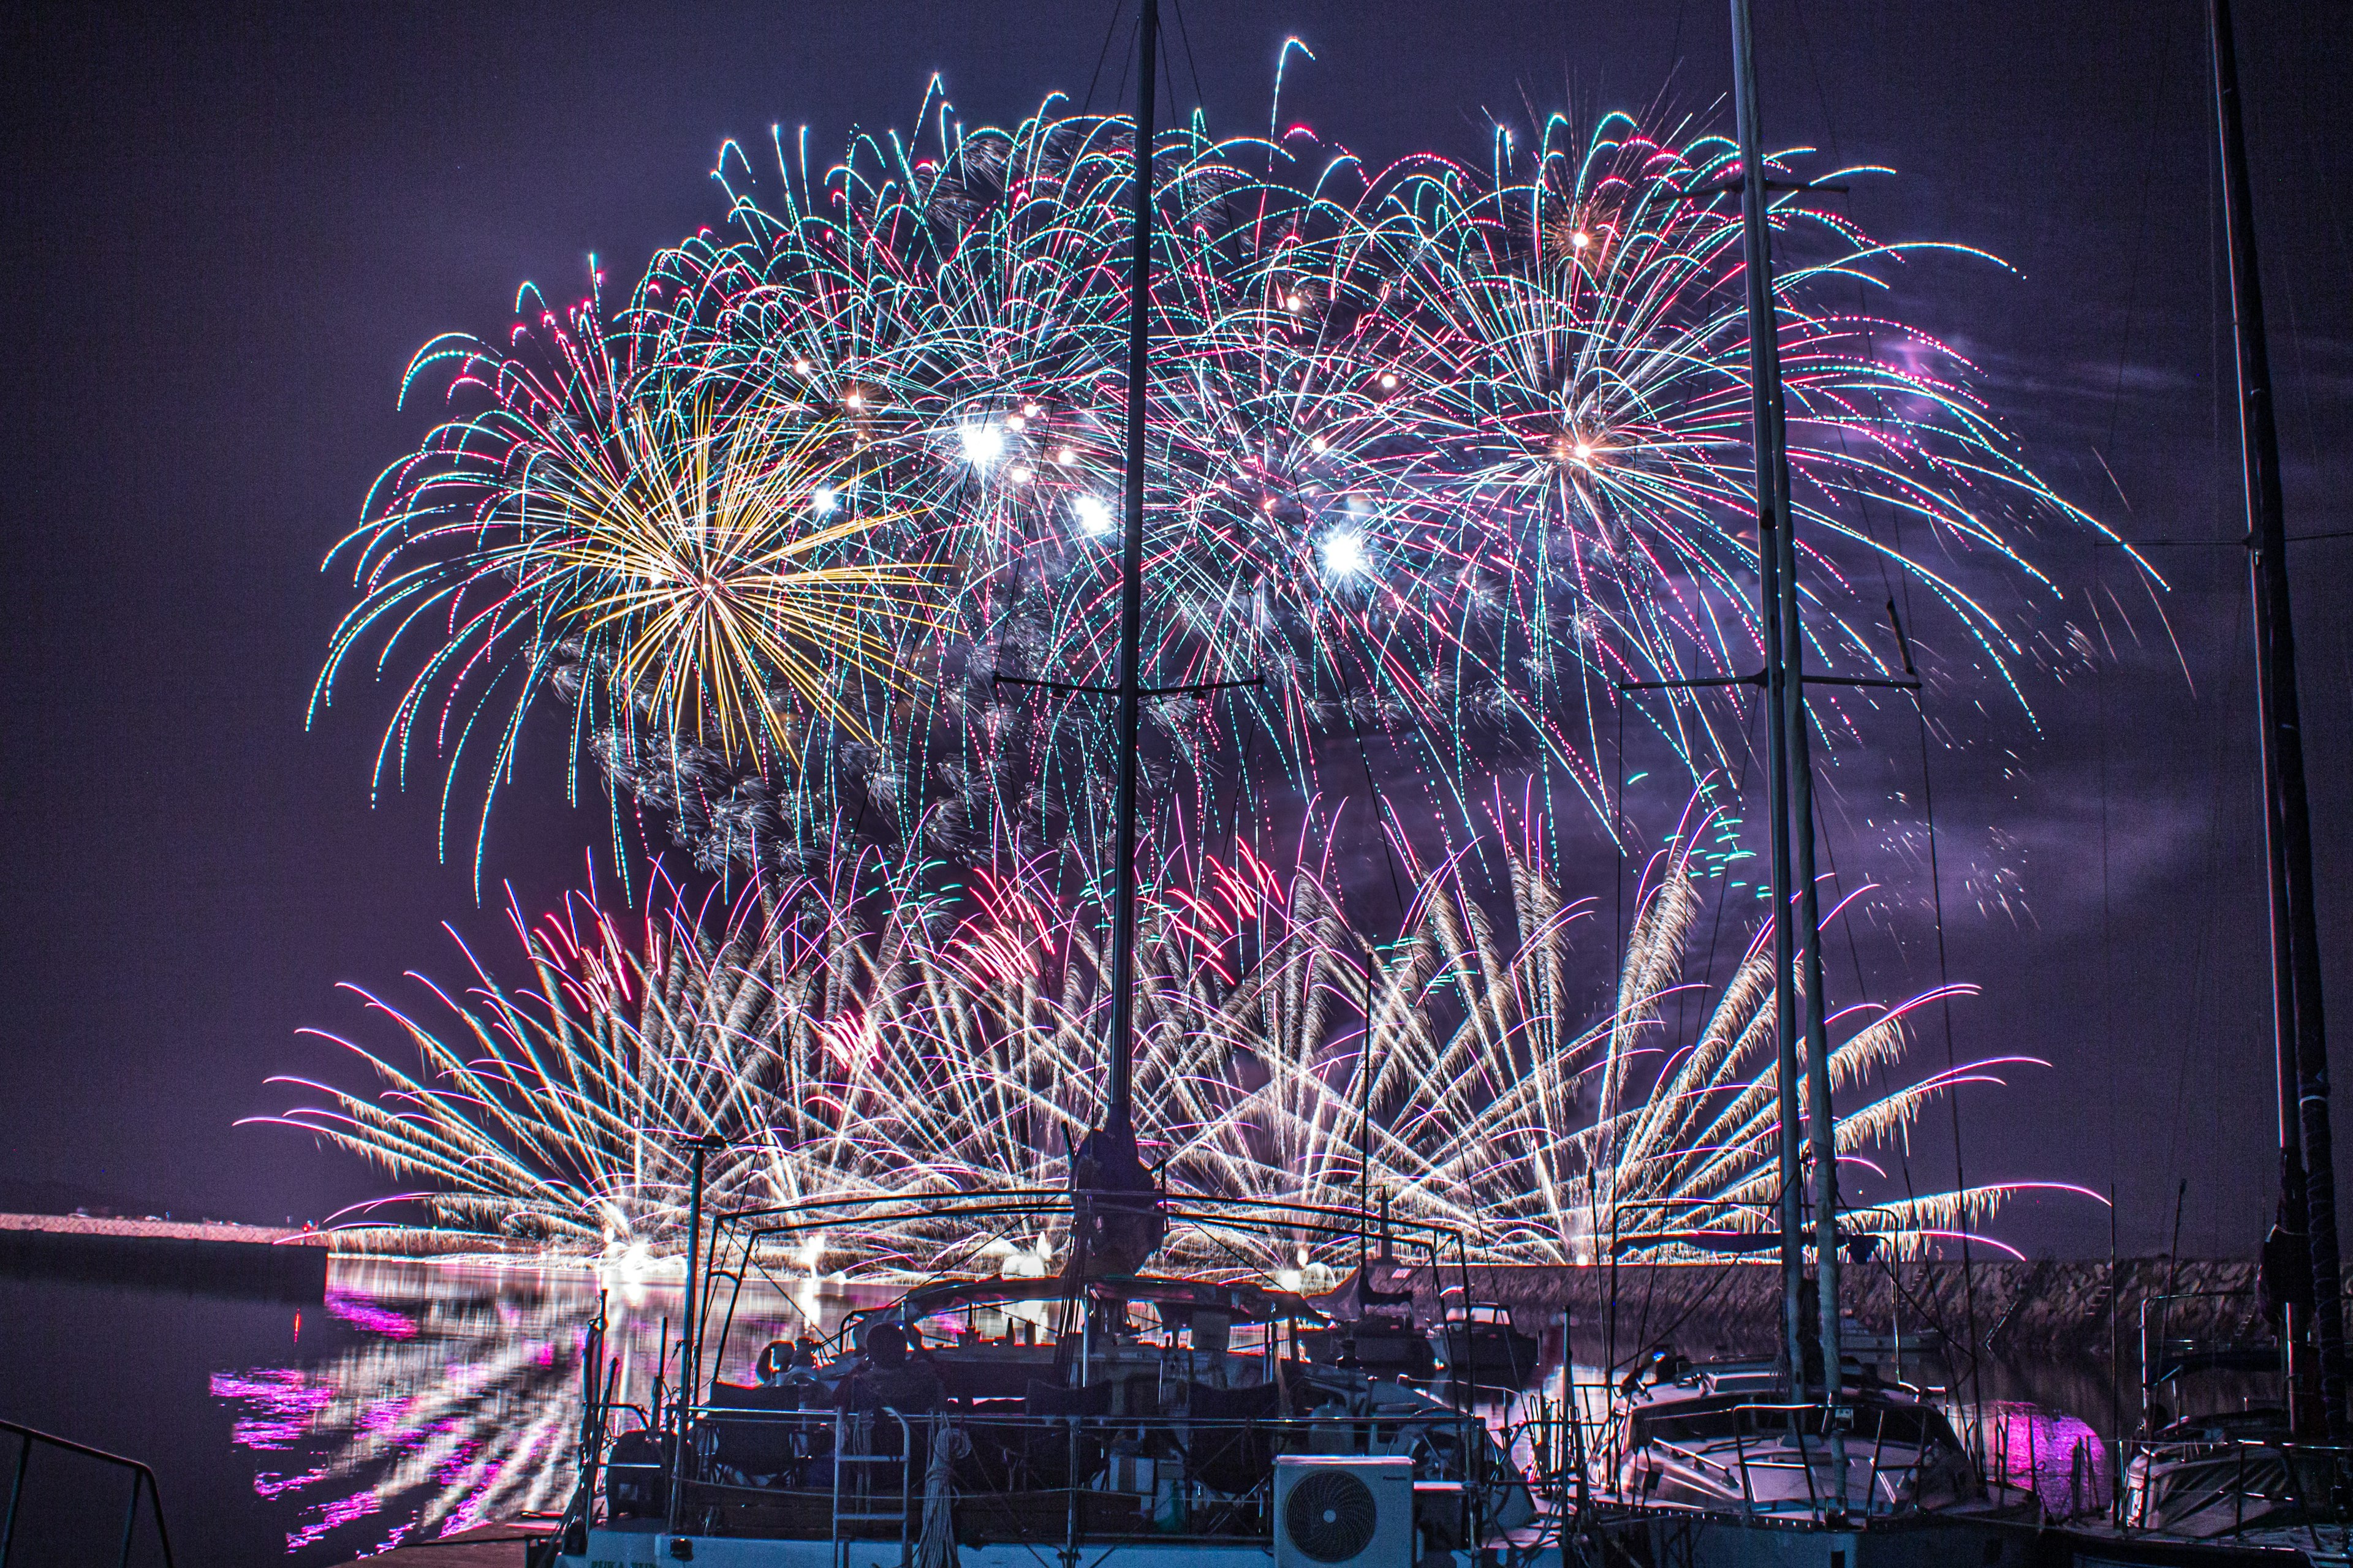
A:
<svg viewBox="0 0 2353 1568">
<path fill-rule="evenodd" d="M 153 1465 L 181 1563 L 346 1563 L 562 1507 L 600 1288 L 621 1396 L 642 1403 L 675 1286 L 336 1262 L 325 1305 L 289 1307 L 0 1276 L 0 1415 Z M 767 1340 L 831 1328 L 849 1305 L 807 1286 L 746 1291 L 720 1375 L 748 1378 Z M 2106 1368 L 1988 1368 L 1984 1396 L 1988 1450 L 2012 1481 L 2031 1476 L 2054 1509 L 2106 1495 Z M 0 1460 L 14 1462 L 12 1443 Z M 125 1479 L 42 1453 L 26 1497 L 16 1561 L 113 1561 Z"/>
</svg>

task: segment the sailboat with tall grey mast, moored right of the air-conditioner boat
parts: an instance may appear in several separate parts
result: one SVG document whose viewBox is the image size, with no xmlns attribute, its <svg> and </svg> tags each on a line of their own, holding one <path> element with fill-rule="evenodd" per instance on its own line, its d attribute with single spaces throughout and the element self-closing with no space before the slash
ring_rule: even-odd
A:
<svg viewBox="0 0 2353 1568">
<path fill-rule="evenodd" d="M 1842 679 L 1809 675 L 1802 665 L 1772 282 L 1774 183 L 1762 155 L 1748 0 L 1732 0 L 1732 54 L 1741 174 L 1704 200 L 1737 190 L 1744 207 L 1758 628 L 1765 654 L 1753 684 L 1765 691 L 1767 733 L 1781 1194 L 1774 1237 L 1729 1241 L 1739 1251 L 1779 1251 L 1781 1347 L 1769 1359 L 1715 1363 L 1685 1361 L 1671 1347 L 1652 1349 L 1647 1363 L 1612 1392 L 1598 1460 L 1600 1497 L 1621 1509 L 1607 1530 L 1640 1542 L 1635 1552 L 1649 1561 L 1793 1561 L 1788 1533 L 1800 1530 L 1826 1537 L 1821 1544 L 1833 1563 L 1998 1563 L 2024 1549 L 1991 1530 L 1991 1521 L 2014 1512 L 2019 1497 L 1984 1481 L 1951 1422 L 1918 1389 L 1880 1382 L 1861 1361 L 1845 1356 L 1840 1342 L 1840 1253 L 1852 1239 L 1838 1229 L 1805 689 L 1918 682 Z M 1802 1211 L 1807 1164 L 1812 1237 Z M 1812 1274 L 1805 1272 L 1807 1241 Z M 1979 1537 L 1960 1542 L 1955 1530 Z"/>
</svg>

